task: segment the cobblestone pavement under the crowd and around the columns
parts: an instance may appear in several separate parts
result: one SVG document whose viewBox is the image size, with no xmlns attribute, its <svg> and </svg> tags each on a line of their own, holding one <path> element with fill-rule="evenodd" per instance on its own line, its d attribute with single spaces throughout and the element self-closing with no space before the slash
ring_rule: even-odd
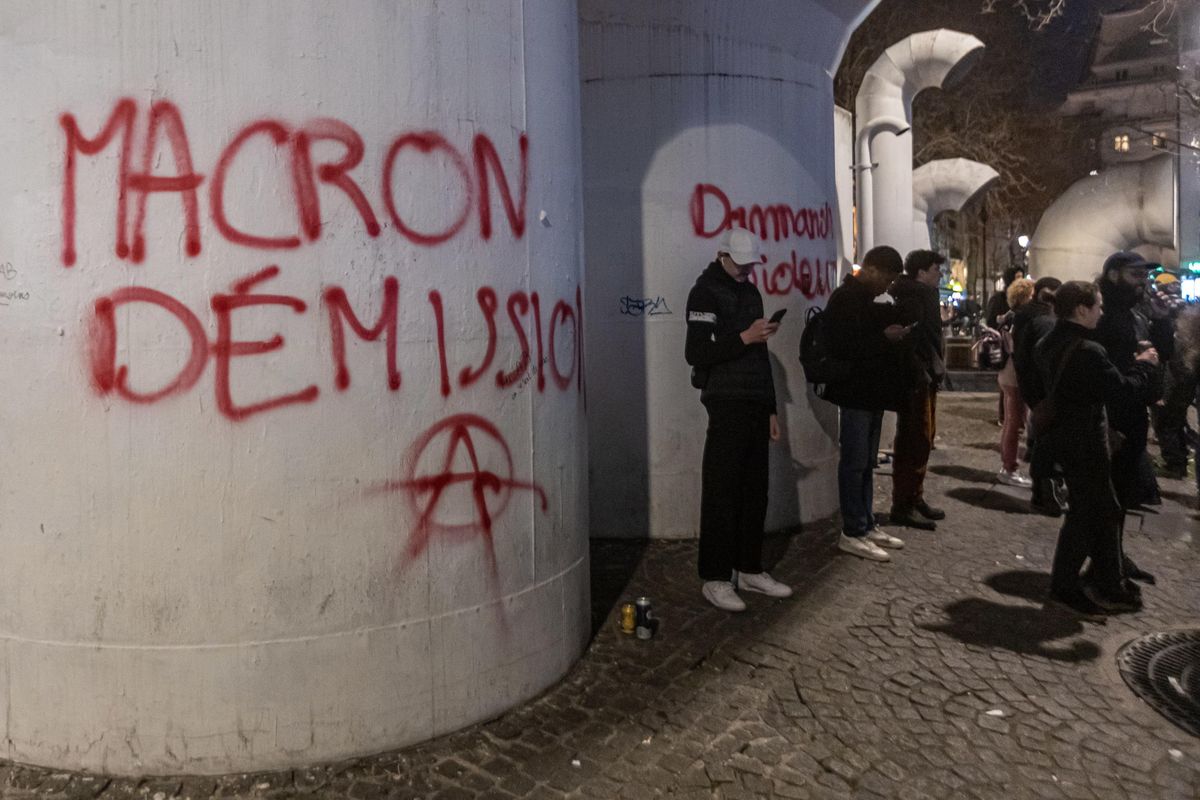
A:
<svg viewBox="0 0 1200 800">
<path fill-rule="evenodd" d="M 770 546 L 788 601 L 707 606 L 691 542 L 593 547 L 599 632 L 556 687 L 493 722 L 353 762 L 223 778 L 113 780 L 0 768 L 38 798 L 1200 798 L 1200 739 L 1136 699 L 1114 661 L 1150 631 L 1200 627 L 1194 488 L 1164 481 L 1127 547 L 1158 575 L 1146 609 L 1081 622 L 1043 609 L 1057 523 L 995 485 L 995 396 L 944 396 L 930 499 L 880 565 L 810 525 Z M 890 481 L 880 481 L 887 507 Z M 1188 504 L 1188 505 L 1184 505 Z M 900 531 L 898 531 L 900 533 Z M 662 630 L 616 628 L 648 594 Z"/>
</svg>

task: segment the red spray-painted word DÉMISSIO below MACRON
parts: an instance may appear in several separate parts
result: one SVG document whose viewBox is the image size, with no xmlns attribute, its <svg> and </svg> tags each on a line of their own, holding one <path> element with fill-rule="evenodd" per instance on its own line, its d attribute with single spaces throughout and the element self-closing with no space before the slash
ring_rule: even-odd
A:
<svg viewBox="0 0 1200 800">
<path fill-rule="evenodd" d="M 320 397 L 316 384 L 298 386 L 295 391 L 239 402 L 234 398 L 230 380 L 230 363 L 235 357 L 264 355 L 282 349 L 286 339 L 276 333 L 269 339 L 239 339 L 234 335 L 234 320 L 250 309 L 278 307 L 293 314 L 310 313 L 308 302 L 301 297 L 272 294 L 260 289 L 262 284 L 280 273 L 278 266 L 269 266 L 254 275 L 241 278 L 228 293 L 211 296 L 210 308 L 216 318 L 216 338 L 209 341 L 200 315 L 172 295 L 149 287 L 125 287 L 95 301 L 88 335 L 88 360 L 91 380 L 100 395 L 116 395 L 125 401 L 150 404 L 190 391 L 199 381 L 211 361 L 214 365 L 214 392 L 222 415 L 233 421 L 246 420 L 256 414 L 271 411 L 293 404 L 313 403 Z M 344 392 L 352 385 L 347 362 L 347 335 L 365 342 L 379 342 L 383 348 L 382 372 L 389 391 L 400 391 L 403 385 L 400 363 L 400 282 L 389 276 L 383 279 L 379 296 L 382 302 L 373 320 L 364 308 L 355 309 L 338 285 L 326 287 L 320 294 L 320 306 L 329 325 L 329 366 L 332 385 Z M 426 296 L 428 312 L 433 317 L 431 338 L 436 349 L 437 380 L 443 397 L 457 390 L 491 385 L 508 390 L 527 374 L 536 375 L 536 391 L 583 392 L 583 301 L 580 289 L 574 297 L 544 299 L 539 293 L 523 290 L 502 295 L 492 287 L 482 287 L 475 293 L 478 313 L 482 318 L 487 341 L 482 355 L 474 363 L 454 363 L 446 347 L 448 312 L 442 293 L 432 290 Z M 163 385 L 134 389 L 137 384 L 133 363 L 120 363 L 121 326 L 118 309 L 124 306 L 148 305 L 166 311 L 178 323 L 188 342 L 188 355 L 174 377 Z M 461 321 L 461 320 L 460 320 Z M 474 323 L 475 320 L 470 320 Z M 281 321 L 281 325 L 283 323 Z M 508 327 L 508 331 L 504 331 Z M 502 331 L 504 333 L 502 335 Z M 504 348 L 504 341 L 514 347 Z M 422 359 L 422 363 L 427 360 Z M 532 365 L 546 365 L 532 371 Z M 238 392 L 247 393 L 246 390 Z"/>
</svg>

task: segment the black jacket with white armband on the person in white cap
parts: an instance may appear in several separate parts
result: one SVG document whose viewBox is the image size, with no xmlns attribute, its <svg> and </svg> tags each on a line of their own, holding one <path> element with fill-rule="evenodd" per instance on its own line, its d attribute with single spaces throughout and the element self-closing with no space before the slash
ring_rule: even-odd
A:
<svg viewBox="0 0 1200 800">
<path fill-rule="evenodd" d="M 733 279 L 719 261 L 709 264 L 696 278 L 688 294 L 684 357 L 708 373 L 700 402 L 742 399 L 775 413 L 775 384 L 767 345 L 742 341 L 742 331 L 762 317 L 757 287 Z"/>
</svg>

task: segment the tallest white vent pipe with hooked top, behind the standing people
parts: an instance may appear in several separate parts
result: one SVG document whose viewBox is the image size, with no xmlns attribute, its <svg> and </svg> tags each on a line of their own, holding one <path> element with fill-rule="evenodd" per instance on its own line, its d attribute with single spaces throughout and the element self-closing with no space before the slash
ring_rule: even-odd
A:
<svg viewBox="0 0 1200 800">
<path fill-rule="evenodd" d="M 912 241 L 912 100 L 931 88 L 962 79 L 983 53 L 974 36 L 938 29 L 913 34 L 883 52 L 866 71 L 854 97 L 859 137 L 859 252 L 889 245 L 907 253 Z M 876 130 L 878 128 L 878 130 Z M 871 164 L 875 164 L 871 167 Z"/>
</svg>

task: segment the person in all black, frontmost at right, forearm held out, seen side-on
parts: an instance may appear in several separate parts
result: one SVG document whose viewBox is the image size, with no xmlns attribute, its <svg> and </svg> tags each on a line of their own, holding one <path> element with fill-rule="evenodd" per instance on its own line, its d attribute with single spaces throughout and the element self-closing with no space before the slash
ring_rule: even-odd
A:
<svg viewBox="0 0 1200 800">
<path fill-rule="evenodd" d="M 1130 610 L 1141 595 L 1130 583 L 1122 551 L 1124 510 L 1112 487 L 1105 404 L 1145 403 L 1162 391 L 1158 354 L 1135 356 L 1127 371 L 1092 339 L 1104 300 L 1092 283 L 1072 281 L 1055 293 L 1054 330 L 1034 348 L 1052 420 L 1039 446 L 1062 464 L 1070 493 L 1050 578 L 1051 599 L 1085 613 Z M 1091 559 L 1086 576 L 1084 561 Z"/>
</svg>

